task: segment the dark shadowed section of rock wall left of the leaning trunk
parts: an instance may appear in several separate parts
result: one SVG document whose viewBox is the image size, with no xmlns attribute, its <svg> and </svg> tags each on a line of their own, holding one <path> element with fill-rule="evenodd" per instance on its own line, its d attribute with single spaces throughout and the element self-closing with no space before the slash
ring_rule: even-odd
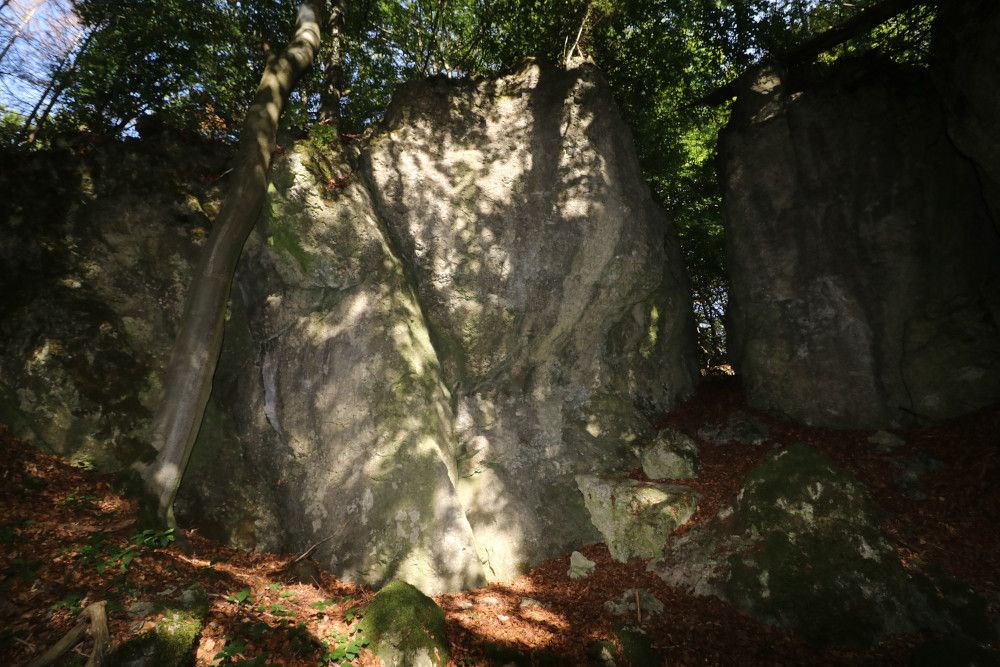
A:
<svg viewBox="0 0 1000 667">
<path fill-rule="evenodd" d="M 0 157 L 0 421 L 117 471 L 148 428 L 227 152 L 169 137 Z"/>
</svg>

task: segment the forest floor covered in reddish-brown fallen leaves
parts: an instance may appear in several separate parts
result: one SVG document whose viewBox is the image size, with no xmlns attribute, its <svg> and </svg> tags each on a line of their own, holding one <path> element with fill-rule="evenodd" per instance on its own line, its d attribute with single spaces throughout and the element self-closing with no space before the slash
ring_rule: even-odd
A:
<svg viewBox="0 0 1000 667">
<path fill-rule="evenodd" d="M 903 561 L 944 568 L 997 612 L 1000 408 L 900 433 L 902 450 L 943 464 L 924 478 L 924 500 L 900 489 L 890 457 L 867 441 L 870 431 L 806 428 L 757 413 L 732 379 L 704 383 L 660 426 L 695 436 L 704 424 L 733 413 L 765 424 L 767 440 L 761 446 L 699 441 L 702 474 L 690 484 L 702 501 L 682 530 L 729 503 L 746 472 L 773 446 L 805 442 L 867 483 Z M 238 551 L 196 532 L 185 534 L 188 546 L 181 549 L 171 536 L 142 533 L 135 522 L 135 503 L 115 490 L 111 478 L 71 467 L 0 427 L 0 664 L 28 662 L 75 625 L 81 609 L 100 600 L 108 601 L 118 645 L 154 626 L 158 617 L 149 600 L 196 583 L 209 601 L 197 639 L 198 665 L 317 665 L 337 658 L 337 649 L 357 648 L 353 633 L 372 591 L 318 568 L 296 578 L 291 572 L 298 568 L 287 567 L 295 554 Z M 533 655 L 536 663 L 586 664 L 591 642 L 615 641 L 615 619 L 604 603 L 630 588 L 647 589 L 665 606 L 642 619 L 663 664 L 905 664 L 911 647 L 924 639 L 899 637 L 867 651 L 815 651 L 720 600 L 666 586 L 646 571 L 646 561 L 617 563 L 601 544 L 581 551 L 597 563 L 585 579 L 568 578 L 567 554 L 512 582 L 438 596 L 448 624 L 449 664 L 490 664 L 488 654 L 505 650 Z M 83 644 L 77 650 L 89 649 Z M 378 662 L 365 650 L 345 652 L 351 664 Z"/>
</svg>

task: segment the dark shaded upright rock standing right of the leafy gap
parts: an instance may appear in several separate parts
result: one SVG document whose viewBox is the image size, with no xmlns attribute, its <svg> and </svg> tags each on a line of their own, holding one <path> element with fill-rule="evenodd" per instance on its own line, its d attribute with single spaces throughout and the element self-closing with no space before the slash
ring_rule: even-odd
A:
<svg viewBox="0 0 1000 667">
<path fill-rule="evenodd" d="M 1000 236 L 926 73 L 764 76 L 720 153 L 731 351 L 755 407 L 880 428 L 1000 400 Z"/>
</svg>

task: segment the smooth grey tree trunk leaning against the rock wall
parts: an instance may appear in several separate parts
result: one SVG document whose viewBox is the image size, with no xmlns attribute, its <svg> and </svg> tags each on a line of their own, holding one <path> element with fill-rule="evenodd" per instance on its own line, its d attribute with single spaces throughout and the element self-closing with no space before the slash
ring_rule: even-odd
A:
<svg viewBox="0 0 1000 667">
<path fill-rule="evenodd" d="M 280 55 L 268 57 L 240 134 L 226 198 L 188 287 L 184 314 L 167 365 L 163 399 L 153 418 L 153 446 L 157 456 L 152 463 L 140 466 L 146 489 L 156 499 L 160 519 L 171 525 L 177 487 L 212 390 L 236 263 L 267 192 L 267 175 L 282 107 L 319 49 L 318 16 L 312 2 L 303 2 L 292 42 Z"/>
</svg>

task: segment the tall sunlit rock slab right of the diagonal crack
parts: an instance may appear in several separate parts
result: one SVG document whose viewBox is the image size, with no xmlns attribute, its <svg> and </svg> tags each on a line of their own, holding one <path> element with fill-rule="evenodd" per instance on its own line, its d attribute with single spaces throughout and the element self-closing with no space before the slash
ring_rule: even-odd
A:
<svg viewBox="0 0 1000 667">
<path fill-rule="evenodd" d="M 452 392 L 490 569 L 594 539 L 573 475 L 627 468 L 635 404 L 669 408 L 694 377 L 675 232 L 603 78 L 408 84 L 366 171 Z"/>
</svg>

